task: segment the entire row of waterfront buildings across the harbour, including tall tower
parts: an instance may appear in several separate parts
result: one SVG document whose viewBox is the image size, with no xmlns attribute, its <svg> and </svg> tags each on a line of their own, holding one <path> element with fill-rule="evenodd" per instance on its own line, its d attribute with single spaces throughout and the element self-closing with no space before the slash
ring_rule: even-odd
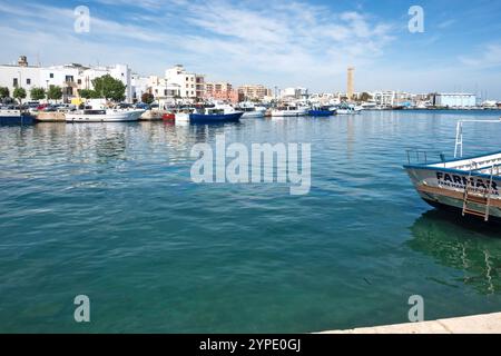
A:
<svg viewBox="0 0 501 356">
<path fill-rule="evenodd" d="M 143 77 L 135 73 L 128 65 L 109 67 L 82 66 L 78 63 L 63 66 L 29 66 L 24 56 L 17 63 L 0 66 L 0 87 L 24 88 L 30 100 L 30 89 L 58 86 L 62 89 L 62 100 L 71 102 L 79 98 L 82 89 L 94 89 L 92 80 L 109 75 L 126 86 L 126 101 L 141 101 L 148 92 L 159 102 L 223 100 L 238 102 L 246 100 L 272 101 L 274 99 L 311 100 L 314 102 L 360 101 L 379 107 L 451 107 L 472 108 L 482 103 L 501 106 L 499 102 L 481 102 L 474 93 L 410 93 L 402 91 L 354 92 L 353 68 L 348 69 L 347 92 L 310 93 L 306 88 L 268 89 L 262 85 L 246 85 L 234 88 L 229 82 L 207 81 L 203 75 L 187 71 L 177 65 L 165 71 L 163 77 Z"/>
</svg>

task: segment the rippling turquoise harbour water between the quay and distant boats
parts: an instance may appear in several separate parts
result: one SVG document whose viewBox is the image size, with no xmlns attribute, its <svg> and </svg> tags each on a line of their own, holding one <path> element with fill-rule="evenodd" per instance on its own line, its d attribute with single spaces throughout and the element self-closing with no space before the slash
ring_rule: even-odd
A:
<svg viewBox="0 0 501 356">
<path fill-rule="evenodd" d="M 416 294 L 426 319 L 499 312 L 501 228 L 432 209 L 402 169 L 499 116 L 0 127 L 0 332 L 318 332 L 404 323 Z M 501 125 L 465 131 L 465 154 L 500 149 Z M 311 192 L 191 182 L 193 145 L 222 132 L 311 142 Z"/>
</svg>

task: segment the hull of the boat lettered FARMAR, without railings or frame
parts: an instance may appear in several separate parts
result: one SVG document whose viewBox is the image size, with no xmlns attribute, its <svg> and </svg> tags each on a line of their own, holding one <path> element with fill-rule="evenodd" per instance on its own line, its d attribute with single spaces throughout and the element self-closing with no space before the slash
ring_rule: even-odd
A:
<svg viewBox="0 0 501 356">
<path fill-rule="evenodd" d="M 404 167 L 420 197 L 433 207 L 448 207 L 462 212 L 464 204 L 464 190 L 474 197 L 489 195 L 490 177 L 482 174 L 439 168 L 439 167 Z M 490 218 L 501 218 L 501 177 L 493 177 L 491 201 L 489 208 Z M 469 202 L 469 206 L 478 211 L 485 211 L 485 205 Z"/>
</svg>

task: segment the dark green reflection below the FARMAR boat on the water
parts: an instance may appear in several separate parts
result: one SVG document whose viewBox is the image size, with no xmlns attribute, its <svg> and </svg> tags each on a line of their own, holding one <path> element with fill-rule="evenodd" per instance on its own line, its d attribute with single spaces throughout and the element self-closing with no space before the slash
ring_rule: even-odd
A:
<svg viewBox="0 0 501 356">
<path fill-rule="evenodd" d="M 458 214 L 431 210 L 411 227 L 413 239 L 407 244 L 443 266 L 462 270 L 464 277 L 460 281 L 477 291 L 501 294 L 499 228 L 464 220 Z"/>
</svg>

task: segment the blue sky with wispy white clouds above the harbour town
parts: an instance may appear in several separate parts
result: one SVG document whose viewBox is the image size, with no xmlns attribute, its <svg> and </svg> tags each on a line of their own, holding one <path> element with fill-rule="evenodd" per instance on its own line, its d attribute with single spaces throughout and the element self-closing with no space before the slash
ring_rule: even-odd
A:
<svg viewBox="0 0 501 356">
<path fill-rule="evenodd" d="M 73 31 L 77 6 L 90 32 Z M 424 9 L 411 33 L 409 8 Z M 0 62 L 129 63 L 163 75 L 184 63 L 207 80 L 501 99 L 501 1 L 466 0 L 0 0 Z"/>
</svg>

